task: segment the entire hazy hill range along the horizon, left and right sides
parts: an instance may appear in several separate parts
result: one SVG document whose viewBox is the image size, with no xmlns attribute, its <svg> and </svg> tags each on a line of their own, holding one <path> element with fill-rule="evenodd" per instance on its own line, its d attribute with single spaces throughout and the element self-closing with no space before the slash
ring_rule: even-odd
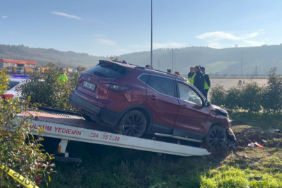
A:
<svg viewBox="0 0 282 188">
<path fill-rule="evenodd" d="M 187 74 L 189 67 L 205 66 L 209 73 L 240 75 L 243 51 L 243 74 L 265 75 L 267 70 L 278 67 L 282 73 L 282 45 L 263 45 L 261 47 L 237 47 L 214 49 L 210 47 L 185 47 L 173 49 L 173 71 L 175 70 L 175 54 L 177 70 Z M 13 58 L 25 61 L 36 61 L 45 65 L 49 61 L 57 65 L 75 68 L 77 65 L 92 67 L 99 59 L 109 59 L 104 56 L 92 56 L 86 53 L 61 52 L 56 49 L 30 48 L 24 45 L 0 45 L 0 58 Z M 150 52 L 134 52 L 118 56 L 127 63 L 145 66 L 150 64 Z M 166 71 L 171 68 L 171 49 L 155 49 L 153 51 L 153 67 Z"/>
</svg>

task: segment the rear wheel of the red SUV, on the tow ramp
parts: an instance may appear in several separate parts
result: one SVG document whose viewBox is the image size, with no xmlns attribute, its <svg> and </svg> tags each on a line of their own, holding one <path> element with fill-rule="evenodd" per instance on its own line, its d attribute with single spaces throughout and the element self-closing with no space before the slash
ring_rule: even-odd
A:
<svg viewBox="0 0 282 188">
<path fill-rule="evenodd" d="M 117 133 L 122 132 L 126 136 L 141 137 L 146 130 L 146 116 L 138 110 L 125 113 L 115 126 Z"/>
</svg>

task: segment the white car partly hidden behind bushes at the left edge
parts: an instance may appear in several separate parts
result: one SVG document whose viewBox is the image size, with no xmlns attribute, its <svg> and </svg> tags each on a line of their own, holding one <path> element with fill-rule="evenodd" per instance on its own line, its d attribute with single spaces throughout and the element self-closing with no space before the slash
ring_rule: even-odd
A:
<svg viewBox="0 0 282 188">
<path fill-rule="evenodd" d="M 1 96 L 2 99 L 8 98 L 17 98 L 17 97 L 22 97 L 22 95 L 19 93 L 19 86 L 22 84 L 26 83 L 29 81 L 28 79 L 23 79 L 23 78 L 10 78 L 10 81 L 8 83 L 8 89 L 5 94 Z"/>
</svg>

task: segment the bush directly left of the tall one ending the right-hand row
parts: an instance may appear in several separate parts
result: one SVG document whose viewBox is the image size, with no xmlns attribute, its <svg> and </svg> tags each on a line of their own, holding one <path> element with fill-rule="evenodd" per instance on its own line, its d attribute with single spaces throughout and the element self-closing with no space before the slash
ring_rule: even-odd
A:
<svg viewBox="0 0 282 188">
<path fill-rule="evenodd" d="M 261 96 L 263 89 L 256 82 L 242 86 L 241 108 L 248 112 L 258 112 L 261 108 Z"/>
</svg>

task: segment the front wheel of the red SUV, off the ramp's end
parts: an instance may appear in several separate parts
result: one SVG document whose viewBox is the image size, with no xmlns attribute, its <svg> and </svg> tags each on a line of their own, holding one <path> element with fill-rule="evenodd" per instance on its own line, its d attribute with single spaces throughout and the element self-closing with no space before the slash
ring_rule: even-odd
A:
<svg viewBox="0 0 282 188">
<path fill-rule="evenodd" d="M 208 148 L 224 148 L 226 141 L 226 130 L 219 125 L 211 127 L 205 136 L 205 144 Z"/>
</svg>

